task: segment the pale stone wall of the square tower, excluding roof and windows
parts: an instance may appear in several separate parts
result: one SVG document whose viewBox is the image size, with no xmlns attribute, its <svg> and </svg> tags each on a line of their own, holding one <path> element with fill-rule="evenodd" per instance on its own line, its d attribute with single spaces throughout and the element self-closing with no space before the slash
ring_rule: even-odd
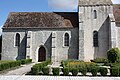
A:
<svg viewBox="0 0 120 80">
<path fill-rule="evenodd" d="M 97 18 L 94 19 L 94 10 L 97 12 Z M 106 57 L 109 49 L 109 14 L 112 13 L 112 6 L 79 6 L 79 25 L 82 30 L 82 49 L 79 49 L 79 59 L 90 61 L 96 57 Z M 93 46 L 93 31 L 98 31 L 98 47 Z M 80 35 L 81 33 L 79 33 Z M 80 42 L 79 42 L 80 43 Z M 81 44 L 79 44 L 81 45 Z"/>
</svg>

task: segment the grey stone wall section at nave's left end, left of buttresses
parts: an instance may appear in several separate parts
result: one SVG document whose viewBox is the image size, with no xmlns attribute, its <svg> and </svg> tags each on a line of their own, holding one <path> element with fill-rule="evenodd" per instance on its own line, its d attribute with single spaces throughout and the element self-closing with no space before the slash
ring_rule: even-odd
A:
<svg viewBox="0 0 120 80">
<path fill-rule="evenodd" d="M 20 34 L 20 47 L 15 46 L 16 33 Z M 2 60 L 18 60 L 25 58 L 25 31 L 3 30 Z"/>
</svg>

